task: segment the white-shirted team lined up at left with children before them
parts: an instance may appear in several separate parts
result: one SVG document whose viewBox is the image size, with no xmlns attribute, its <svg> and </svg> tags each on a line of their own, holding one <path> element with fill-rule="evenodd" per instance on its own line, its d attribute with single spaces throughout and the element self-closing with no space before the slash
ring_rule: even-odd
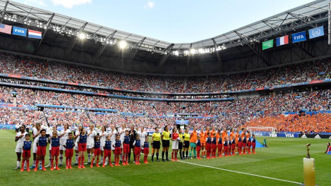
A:
<svg viewBox="0 0 331 186">
<path fill-rule="evenodd" d="M 134 150 L 135 161 L 133 163 L 140 164 L 140 151 L 144 150 L 144 162 L 147 163 L 147 155 L 149 153 L 149 143 L 148 143 L 148 133 L 144 131 L 144 128 L 141 127 L 140 134 L 133 129 L 133 126 L 130 126 L 130 130 L 125 129 L 125 124 L 121 125 L 121 129 L 117 132 L 118 129 L 115 129 L 115 126 L 111 126 L 111 131 L 109 133 L 106 132 L 106 126 L 102 126 L 99 132 L 99 135 L 94 130 L 94 126 L 90 125 L 89 133 L 86 133 L 86 129 L 79 125 L 78 131 L 75 136 L 73 136 L 72 132 L 68 129 L 68 124 L 64 125 L 64 129 L 59 133 L 57 131 L 57 126 L 53 125 L 53 131 L 51 136 L 47 136 L 46 130 L 41 129 L 41 125 L 37 123 L 35 128 L 33 129 L 34 139 L 33 143 L 29 140 L 30 134 L 25 131 L 25 126 L 21 126 L 21 132 L 16 134 L 15 141 L 18 141 L 16 147 L 17 153 L 17 167 L 14 169 L 19 169 L 21 154 L 23 153 L 23 161 L 22 161 L 22 169 L 24 167 L 28 167 L 28 162 L 30 158 L 30 149 L 32 146 L 32 153 L 34 155 L 33 166 L 27 168 L 30 171 L 30 168 L 34 168 L 37 170 L 38 163 L 40 162 L 39 169 L 45 169 L 45 155 L 46 155 L 46 146 L 47 143 L 50 143 L 49 146 L 49 156 L 50 163 L 46 167 L 51 167 L 51 170 L 60 169 L 59 166 L 62 166 L 63 159 L 63 151 L 65 151 L 66 158 L 66 168 L 71 167 L 71 157 L 73 156 L 73 150 L 75 150 L 76 155 L 76 163 L 73 165 L 78 165 L 78 168 L 85 168 L 84 165 L 91 164 L 91 154 L 92 154 L 92 164 L 95 160 L 97 161 L 96 166 L 99 167 L 98 162 L 101 155 L 101 164 L 103 162 L 103 166 L 107 165 L 106 158 L 109 159 L 111 157 L 111 152 L 115 155 L 115 166 L 119 166 L 119 157 L 121 159 L 121 163 L 123 165 L 128 165 L 130 161 L 130 150 Z M 130 133 L 130 135 L 129 135 Z M 142 137 L 142 142 L 140 143 L 140 136 Z M 147 139 L 146 139 L 147 138 Z M 75 139 L 75 141 L 74 141 Z M 123 139 L 123 142 L 120 142 L 119 139 Z M 147 143 L 146 143 L 147 142 Z M 141 145 L 140 145 L 141 144 Z M 88 154 L 88 162 L 84 164 L 84 154 L 87 151 Z M 124 161 L 122 162 L 122 153 L 124 154 Z M 60 164 L 58 164 L 58 156 L 60 155 Z M 139 161 L 136 161 L 136 160 Z M 53 162 L 55 160 L 55 167 Z M 110 162 L 110 166 L 113 166 Z"/>
</svg>

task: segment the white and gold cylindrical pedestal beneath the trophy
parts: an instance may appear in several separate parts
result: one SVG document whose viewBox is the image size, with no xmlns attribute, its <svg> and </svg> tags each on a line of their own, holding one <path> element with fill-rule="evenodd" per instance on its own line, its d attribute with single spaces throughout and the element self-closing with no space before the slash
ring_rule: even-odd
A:
<svg viewBox="0 0 331 186">
<path fill-rule="evenodd" d="M 315 186 L 315 159 L 304 158 L 304 186 Z"/>
</svg>

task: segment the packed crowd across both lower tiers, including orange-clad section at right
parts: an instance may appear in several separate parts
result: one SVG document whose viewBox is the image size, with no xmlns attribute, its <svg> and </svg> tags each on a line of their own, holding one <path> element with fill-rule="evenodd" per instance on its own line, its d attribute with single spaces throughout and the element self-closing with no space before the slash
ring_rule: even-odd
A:
<svg viewBox="0 0 331 186">
<path fill-rule="evenodd" d="M 3 88 L 3 87 L 2 87 Z M 6 92 L 1 94 L 2 96 L 9 93 L 10 88 L 3 88 L 1 92 Z M 32 91 L 28 89 L 18 90 L 19 92 L 17 100 L 18 103 L 47 103 L 47 104 L 60 104 L 62 99 L 54 98 L 52 92 L 42 92 L 42 91 Z M 23 97 L 20 94 L 24 93 Z M 59 94 L 57 94 L 59 95 Z M 51 97 L 49 97 L 51 96 Z M 116 100 L 105 97 L 95 97 L 97 103 L 91 105 L 84 100 L 89 100 L 85 97 L 86 95 L 81 94 L 65 94 L 62 93 L 61 96 L 66 97 L 65 100 L 69 100 L 72 106 L 78 104 L 80 106 L 98 106 L 98 100 L 105 101 L 105 108 L 119 108 L 121 112 L 129 113 L 144 113 L 149 114 L 162 114 L 171 116 L 166 117 L 147 117 L 147 115 L 142 116 L 125 116 L 118 114 L 98 114 L 95 112 L 85 112 L 81 110 L 80 112 L 60 112 L 54 110 L 45 109 L 44 112 L 38 112 L 34 110 L 26 109 L 9 109 L 1 108 L 0 121 L 2 124 L 11 123 L 33 123 L 35 121 L 43 121 L 43 113 L 45 118 L 50 124 L 64 123 L 70 124 L 84 124 L 94 123 L 102 125 L 103 123 L 127 123 L 139 126 L 143 124 L 144 126 L 164 126 L 169 123 L 174 123 L 175 114 L 169 113 L 197 113 L 198 115 L 218 115 L 218 118 L 203 118 L 196 119 L 190 118 L 190 126 L 208 126 L 213 125 L 219 128 L 238 128 L 242 125 L 247 126 L 264 126 L 264 127 L 274 127 L 275 125 L 281 124 L 281 129 L 284 131 L 293 130 L 310 130 L 320 131 L 322 128 L 325 130 L 330 129 L 330 116 L 325 115 L 314 115 L 314 116 L 304 116 L 295 118 L 286 117 L 285 115 L 294 112 L 298 113 L 302 109 L 307 109 L 307 111 L 327 111 L 331 110 L 331 90 L 314 91 L 314 92 L 303 92 L 303 93 L 288 93 L 284 95 L 268 95 L 263 97 L 252 97 L 252 98 L 241 98 L 232 102 L 202 102 L 202 103 L 188 103 L 188 102 L 147 102 L 147 101 L 132 101 L 132 100 Z M 6 96 L 4 99 L 8 99 Z M 44 99 L 46 102 L 44 102 Z M 76 101 L 78 100 L 78 101 Z M 94 101 L 93 101 L 94 102 Z M 100 108 L 100 107 L 99 107 Z M 28 119 L 25 119 L 27 116 Z M 187 116 L 187 115 L 186 115 Z M 316 119 L 314 117 L 319 117 Z M 291 119 L 290 119 L 291 118 Z M 181 119 L 181 117 L 179 117 Z M 286 121 L 284 123 L 284 121 Z M 320 124 L 316 121 L 320 122 Z M 315 122 L 316 125 L 310 127 L 310 124 Z M 269 124 L 267 124 L 269 123 Z M 289 125 L 291 123 L 291 125 Z M 301 124 L 305 124 L 306 127 L 300 128 Z M 322 127 L 321 127 L 322 126 Z M 323 131 L 323 130 L 322 130 Z"/>
</svg>

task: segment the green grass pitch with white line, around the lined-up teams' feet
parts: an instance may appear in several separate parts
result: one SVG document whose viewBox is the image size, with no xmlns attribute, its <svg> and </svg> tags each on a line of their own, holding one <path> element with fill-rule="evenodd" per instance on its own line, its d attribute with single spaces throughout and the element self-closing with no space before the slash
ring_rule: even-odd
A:
<svg viewBox="0 0 331 186">
<path fill-rule="evenodd" d="M 325 154 L 330 139 L 269 137 L 269 148 L 257 148 L 257 154 L 217 159 L 189 159 L 182 162 L 151 162 L 140 166 L 129 163 L 120 167 L 87 167 L 37 172 L 20 172 L 16 167 L 15 131 L 0 130 L 0 185 L 299 185 L 286 181 L 247 175 L 238 172 L 303 183 L 303 158 L 306 144 L 311 143 L 310 156 L 315 159 L 317 185 L 330 185 L 331 156 Z M 262 137 L 257 137 L 262 141 Z M 161 147 L 162 148 L 162 147 Z M 170 144 L 171 148 L 171 144 Z M 47 148 L 48 149 L 48 148 Z M 161 156 L 160 149 L 160 156 Z M 151 150 L 150 150 L 151 153 Z M 132 155 L 131 155 L 132 156 Z M 171 157 L 171 150 L 169 149 Z M 178 155 L 179 156 L 179 155 Z M 87 156 L 85 155 L 85 162 Z M 45 158 L 48 164 L 48 151 Z M 112 160 L 114 157 L 112 156 Z M 133 156 L 131 161 L 133 160 Z M 161 160 L 161 159 L 160 159 Z M 72 162 L 74 162 L 74 158 Z M 183 163 L 188 162 L 188 163 Z M 63 161 L 65 164 L 65 161 Z M 193 165 L 197 164 L 197 165 Z M 32 165 L 32 157 L 30 159 Z M 199 166 L 202 165 L 202 166 Z M 204 167 L 208 166 L 208 167 Z M 215 168 L 213 168 L 215 167 Z M 220 168 L 220 169 L 217 169 Z M 226 170 L 233 170 L 231 172 Z"/>
</svg>

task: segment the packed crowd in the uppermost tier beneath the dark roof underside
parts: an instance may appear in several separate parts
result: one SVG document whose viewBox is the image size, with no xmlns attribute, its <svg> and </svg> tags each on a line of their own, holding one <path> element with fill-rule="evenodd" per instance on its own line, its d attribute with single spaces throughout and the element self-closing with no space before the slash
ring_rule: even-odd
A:
<svg viewBox="0 0 331 186">
<path fill-rule="evenodd" d="M 331 78 L 329 58 L 305 62 L 304 65 L 297 63 L 250 73 L 210 77 L 124 74 L 6 53 L 0 54 L 0 64 L 2 73 L 119 89 L 178 93 L 235 91 Z"/>
</svg>

